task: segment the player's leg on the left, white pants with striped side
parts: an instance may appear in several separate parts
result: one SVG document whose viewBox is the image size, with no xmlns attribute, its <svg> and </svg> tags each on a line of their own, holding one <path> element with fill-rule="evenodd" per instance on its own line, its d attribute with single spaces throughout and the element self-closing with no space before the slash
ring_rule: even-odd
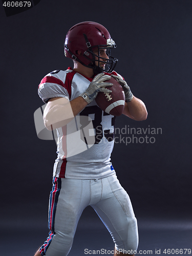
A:
<svg viewBox="0 0 192 256">
<path fill-rule="evenodd" d="M 85 197 L 82 197 L 83 182 L 54 178 L 49 205 L 50 233 L 35 256 L 66 256 L 69 253 L 78 220 L 87 206 Z"/>
</svg>

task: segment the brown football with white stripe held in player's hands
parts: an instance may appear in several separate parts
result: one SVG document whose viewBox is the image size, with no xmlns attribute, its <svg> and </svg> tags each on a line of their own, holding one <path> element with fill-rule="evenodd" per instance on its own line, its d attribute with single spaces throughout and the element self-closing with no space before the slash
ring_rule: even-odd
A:
<svg viewBox="0 0 192 256">
<path fill-rule="evenodd" d="M 125 103 L 125 95 L 122 86 L 113 77 L 111 77 L 109 80 L 106 80 L 106 82 L 113 83 L 113 86 L 106 87 L 112 92 L 99 92 L 95 98 L 95 101 L 99 108 L 104 112 L 113 116 L 120 116 L 124 110 Z"/>
</svg>

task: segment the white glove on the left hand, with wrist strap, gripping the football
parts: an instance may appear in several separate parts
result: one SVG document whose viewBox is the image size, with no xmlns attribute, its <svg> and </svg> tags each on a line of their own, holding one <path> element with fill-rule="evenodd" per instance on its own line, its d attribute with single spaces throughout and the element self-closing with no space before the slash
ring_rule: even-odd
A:
<svg viewBox="0 0 192 256">
<path fill-rule="evenodd" d="M 86 92 L 80 94 L 82 97 L 89 103 L 91 103 L 97 96 L 98 92 L 111 93 L 112 91 L 103 87 L 113 86 L 113 83 L 103 82 L 105 80 L 109 80 L 111 76 L 100 73 L 93 78 L 93 81 L 90 83 Z"/>
</svg>

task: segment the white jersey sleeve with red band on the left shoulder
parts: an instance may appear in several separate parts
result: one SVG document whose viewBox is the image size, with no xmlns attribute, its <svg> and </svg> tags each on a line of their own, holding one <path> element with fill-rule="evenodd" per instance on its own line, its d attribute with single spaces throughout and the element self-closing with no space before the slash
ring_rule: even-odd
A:
<svg viewBox="0 0 192 256">
<path fill-rule="evenodd" d="M 63 97 L 70 100 L 70 91 L 65 84 L 65 71 L 53 71 L 46 75 L 38 86 L 38 95 L 45 103 L 50 98 Z"/>
</svg>

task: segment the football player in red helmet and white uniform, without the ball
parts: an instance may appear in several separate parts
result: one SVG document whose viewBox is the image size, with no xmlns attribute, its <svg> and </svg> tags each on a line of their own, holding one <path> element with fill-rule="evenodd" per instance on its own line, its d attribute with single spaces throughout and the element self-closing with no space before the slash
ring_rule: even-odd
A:
<svg viewBox="0 0 192 256">
<path fill-rule="evenodd" d="M 145 120 L 144 103 L 136 98 L 114 68 L 115 41 L 102 25 L 82 22 L 66 35 L 64 50 L 73 68 L 56 70 L 40 82 L 38 94 L 47 103 L 44 123 L 57 132 L 57 159 L 49 202 L 49 236 L 35 256 L 68 255 L 84 208 L 92 206 L 113 238 L 114 255 L 133 255 L 138 247 L 137 220 L 120 185 L 111 152 L 115 117 L 96 104 L 98 92 L 109 93 L 112 75 L 125 93 L 123 114 Z"/>
</svg>

